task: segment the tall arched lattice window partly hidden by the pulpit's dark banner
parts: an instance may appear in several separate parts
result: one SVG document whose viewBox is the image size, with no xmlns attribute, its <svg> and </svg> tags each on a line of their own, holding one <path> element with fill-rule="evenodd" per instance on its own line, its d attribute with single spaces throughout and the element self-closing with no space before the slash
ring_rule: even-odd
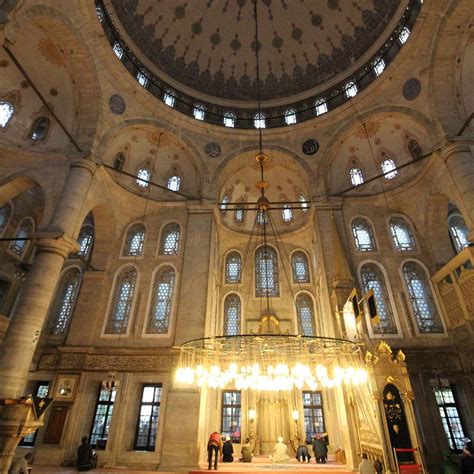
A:
<svg viewBox="0 0 474 474">
<path fill-rule="evenodd" d="M 361 286 L 365 293 L 373 290 L 380 323 L 374 327 L 375 333 L 396 334 L 392 305 L 388 294 L 385 277 L 378 265 L 366 263 L 360 269 Z"/>
</svg>

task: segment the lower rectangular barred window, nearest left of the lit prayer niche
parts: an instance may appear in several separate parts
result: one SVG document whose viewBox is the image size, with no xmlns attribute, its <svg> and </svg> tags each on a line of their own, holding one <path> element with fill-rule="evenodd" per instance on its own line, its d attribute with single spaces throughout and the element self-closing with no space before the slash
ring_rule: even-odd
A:
<svg viewBox="0 0 474 474">
<path fill-rule="evenodd" d="M 162 384 L 143 385 L 134 448 L 154 451 L 160 417 Z"/>
</svg>

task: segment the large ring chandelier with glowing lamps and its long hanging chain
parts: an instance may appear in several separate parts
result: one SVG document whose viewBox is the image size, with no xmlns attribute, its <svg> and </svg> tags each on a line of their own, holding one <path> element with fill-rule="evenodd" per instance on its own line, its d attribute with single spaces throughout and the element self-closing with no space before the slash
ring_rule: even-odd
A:
<svg viewBox="0 0 474 474">
<path fill-rule="evenodd" d="M 254 0 L 257 99 L 259 117 L 260 73 L 257 1 Z M 270 202 L 265 195 L 269 183 L 264 178 L 262 129 L 258 127 L 260 179 L 256 187 L 260 197 L 250 203 L 219 203 L 226 208 L 246 208 L 256 211 L 256 222 L 262 229 L 262 244 L 267 247 L 267 227 L 275 240 L 277 235 L 270 211 L 281 210 L 281 202 Z M 285 203 L 286 208 L 307 208 L 309 201 Z M 252 236 L 250 237 L 252 238 Z M 271 270 L 264 265 L 264 278 L 270 279 Z M 237 390 L 317 390 L 343 384 L 357 385 L 367 382 L 363 368 L 361 346 L 357 343 L 330 337 L 302 336 L 281 333 L 278 318 L 270 311 L 271 295 L 266 293 L 266 312 L 260 319 L 258 333 L 232 336 L 205 337 L 188 341 L 180 346 L 176 381 L 180 384 Z"/>
</svg>

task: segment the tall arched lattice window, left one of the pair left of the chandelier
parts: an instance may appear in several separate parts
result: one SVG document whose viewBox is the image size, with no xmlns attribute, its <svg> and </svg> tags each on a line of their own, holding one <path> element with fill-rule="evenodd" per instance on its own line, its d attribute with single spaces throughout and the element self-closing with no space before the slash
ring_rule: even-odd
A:
<svg viewBox="0 0 474 474">
<path fill-rule="evenodd" d="M 117 277 L 105 334 L 125 334 L 132 314 L 133 296 L 137 283 L 137 269 L 125 267 Z"/>
</svg>

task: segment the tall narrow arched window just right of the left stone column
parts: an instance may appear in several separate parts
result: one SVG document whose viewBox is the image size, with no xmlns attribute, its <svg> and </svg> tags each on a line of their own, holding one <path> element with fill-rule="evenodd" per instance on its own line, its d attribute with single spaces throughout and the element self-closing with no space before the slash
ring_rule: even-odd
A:
<svg viewBox="0 0 474 474">
<path fill-rule="evenodd" d="M 51 311 L 49 327 L 51 336 L 64 336 L 66 334 L 79 294 L 81 277 L 81 271 L 76 267 L 67 269 L 61 276 Z"/>
</svg>

